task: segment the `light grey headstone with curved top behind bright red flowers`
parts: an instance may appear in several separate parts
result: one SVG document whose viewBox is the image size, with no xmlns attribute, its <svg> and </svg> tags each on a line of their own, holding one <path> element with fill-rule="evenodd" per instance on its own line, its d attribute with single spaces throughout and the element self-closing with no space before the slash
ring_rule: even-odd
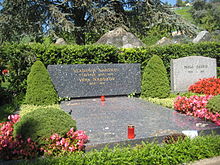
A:
<svg viewBox="0 0 220 165">
<path fill-rule="evenodd" d="M 199 79 L 216 77 L 216 59 L 189 56 L 171 60 L 171 90 L 186 92 Z"/>
</svg>

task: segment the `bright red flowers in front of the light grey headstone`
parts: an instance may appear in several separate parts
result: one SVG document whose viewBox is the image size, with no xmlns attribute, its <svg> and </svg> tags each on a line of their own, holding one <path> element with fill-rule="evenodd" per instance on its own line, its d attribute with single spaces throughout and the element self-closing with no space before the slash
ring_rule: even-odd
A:
<svg viewBox="0 0 220 165">
<path fill-rule="evenodd" d="M 220 94 L 220 78 L 204 78 L 189 86 L 189 91 L 206 95 Z"/>
</svg>

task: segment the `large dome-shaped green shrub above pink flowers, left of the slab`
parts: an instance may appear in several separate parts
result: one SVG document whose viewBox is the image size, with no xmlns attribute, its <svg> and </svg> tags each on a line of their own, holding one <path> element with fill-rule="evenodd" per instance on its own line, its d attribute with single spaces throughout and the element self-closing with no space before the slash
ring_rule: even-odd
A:
<svg viewBox="0 0 220 165">
<path fill-rule="evenodd" d="M 58 133 L 63 136 L 70 128 L 76 128 L 76 122 L 61 109 L 39 108 L 22 116 L 14 125 L 14 137 L 21 135 L 24 139 L 43 144 L 46 138 Z"/>
</svg>

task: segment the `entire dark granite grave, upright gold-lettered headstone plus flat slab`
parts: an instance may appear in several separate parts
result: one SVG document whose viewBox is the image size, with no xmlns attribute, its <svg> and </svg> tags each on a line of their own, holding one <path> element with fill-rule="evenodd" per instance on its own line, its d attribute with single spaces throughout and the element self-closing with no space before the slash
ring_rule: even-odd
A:
<svg viewBox="0 0 220 165">
<path fill-rule="evenodd" d="M 59 96 L 73 98 L 60 106 L 76 120 L 77 129 L 89 136 L 86 151 L 106 145 L 161 142 L 165 136 L 182 131 L 220 134 L 214 123 L 121 96 L 140 92 L 140 64 L 49 65 L 48 71 Z M 105 101 L 95 97 L 102 95 L 107 96 Z M 128 125 L 135 126 L 134 139 L 127 137 Z"/>
</svg>

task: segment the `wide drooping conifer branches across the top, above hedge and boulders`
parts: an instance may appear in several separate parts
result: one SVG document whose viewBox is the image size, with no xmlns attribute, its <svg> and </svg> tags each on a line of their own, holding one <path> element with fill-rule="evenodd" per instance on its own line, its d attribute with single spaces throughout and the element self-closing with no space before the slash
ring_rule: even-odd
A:
<svg viewBox="0 0 220 165">
<path fill-rule="evenodd" d="M 154 26 L 195 33 L 195 27 L 159 0 L 3 0 L 1 6 L 2 41 L 19 41 L 23 36 L 38 39 L 49 33 L 74 36 L 77 44 L 86 44 L 118 26 L 137 36 Z"/>
</svg>

